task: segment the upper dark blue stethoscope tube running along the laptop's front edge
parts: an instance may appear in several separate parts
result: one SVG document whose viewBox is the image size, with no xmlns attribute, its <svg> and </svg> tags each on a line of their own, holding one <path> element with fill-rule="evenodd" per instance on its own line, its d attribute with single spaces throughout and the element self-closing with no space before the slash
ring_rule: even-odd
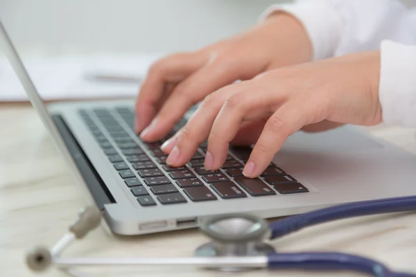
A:
<svg viewBox="0 0 416 277">
<path fill-rule="evenodd" d="M 305 227 L 322 224 L 324 222 L 342 220 L 349 217 L 404 211 L 416 211 L 416 196 L 395 197 L 331 206 L 318 211 L 294 215 L 286 217 L 283 220 L 272 222 L 270 224 L 270 239 L 280 238 Z"/>
</svg>

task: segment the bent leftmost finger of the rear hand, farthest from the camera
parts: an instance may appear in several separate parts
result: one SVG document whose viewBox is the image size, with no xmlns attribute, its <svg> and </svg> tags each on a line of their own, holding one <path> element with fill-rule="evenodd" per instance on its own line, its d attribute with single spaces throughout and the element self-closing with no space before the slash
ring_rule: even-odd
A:
<svg viewBox="0 0 416 277">
<path fill-rule="evenodd" d="M 201 53 L 178 53 L 155 62 L 139 92 L 136 102 L 135 130 L 141 132 L 156 115 L 166 82 L 180 82 L 207 62 Z"/>
</svg>

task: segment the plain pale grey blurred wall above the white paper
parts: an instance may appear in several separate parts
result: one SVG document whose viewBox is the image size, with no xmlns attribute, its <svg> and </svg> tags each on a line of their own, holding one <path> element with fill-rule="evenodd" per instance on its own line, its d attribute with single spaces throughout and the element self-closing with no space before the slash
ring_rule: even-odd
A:
<svg viewBox="0 0 416 277">
<path fill-rule="evenodd" d="M 248 28 L 276 2 L 0 0 L 0 18 L 18 46 L 167 52 L 199 48 Z"/>
</svg>

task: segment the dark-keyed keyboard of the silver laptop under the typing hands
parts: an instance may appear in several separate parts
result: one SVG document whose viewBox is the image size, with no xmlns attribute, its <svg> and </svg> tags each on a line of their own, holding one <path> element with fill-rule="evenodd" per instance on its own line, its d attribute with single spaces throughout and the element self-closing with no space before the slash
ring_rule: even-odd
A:
<svg viewBox="0 0 416 277">
<path fill-rule="evenodd" d="M 249 147 L 230 148 L 222 168 L 208 171 L 204 169 L 205 142 L 186 166 L 171 168 L 166 165 L 167 155 L 159 148 L 186 123 L 185 120 L 162 141 L 137 143 L 135 139 L 139 136 L 135 136 L 133 129 L 135 114 L 129 107 L 81 109 L 79 113 L 119 178 L 141 206 L 309 192 L 273 163 L 259 178 L 243 177 L 243 167 L 252 150 Z"/>
</svg>

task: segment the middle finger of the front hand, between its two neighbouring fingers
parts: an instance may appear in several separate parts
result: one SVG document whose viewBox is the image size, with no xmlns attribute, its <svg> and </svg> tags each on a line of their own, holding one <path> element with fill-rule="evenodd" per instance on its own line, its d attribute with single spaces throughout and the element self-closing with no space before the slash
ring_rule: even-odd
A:
<svg viewBox="0 0 416 277">
<path fill-rule="evenodd" d="M 208 152 L 212 155 L 213 163 L 211 166 L 206 165 L 207 169 L 216 170 L 223 165 L 229 142 L 239 132 L 244 120 L 259 119 L 272 114 L 286 100 L 285 93 L 274 90 L 272 87 L 265 89 L 263 84 L 257 84 L 241 93 L 232 93 L 227 98 L 209 134 Z"/>
</svg>

